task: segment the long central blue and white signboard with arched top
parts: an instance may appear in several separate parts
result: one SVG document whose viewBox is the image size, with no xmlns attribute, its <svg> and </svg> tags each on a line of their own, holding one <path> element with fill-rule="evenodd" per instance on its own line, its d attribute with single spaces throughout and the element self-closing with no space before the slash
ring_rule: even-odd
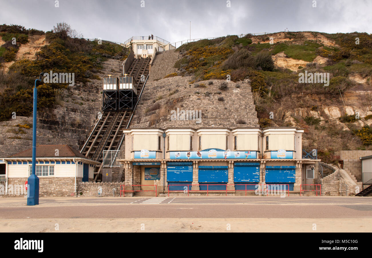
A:
<svg viewBox="0 0 372 258">
<path fill-rule="evenodd" d="M 170 159 L 255 159 L 256 151 L 224 151 L 205 149 L 203 151 L 171 151 Z"/>
</svg>

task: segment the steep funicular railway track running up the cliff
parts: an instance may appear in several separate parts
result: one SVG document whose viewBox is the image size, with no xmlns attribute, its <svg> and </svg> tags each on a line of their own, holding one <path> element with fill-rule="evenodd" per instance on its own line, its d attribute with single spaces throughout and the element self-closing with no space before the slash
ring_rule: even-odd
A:
<svg viewBox="0 0 372 258">
<path fill-rule="evenodd" d="M 133 86 L 135 85 L 138 94 L 143 90 L 148 78 L 150 61 L 150 58 L 134 59 L 128 71 L 126 71 L 128 76 L 133 77 Z M 137 97 L 135 102 L 137 103 L 138 100 Z M 95 171 L 95 179 L 102 170 L 103 150 L 120 149 L 124 138 L 123 130 L 128 128 L 133 113 L 134 109 L 102 111 L 102 116 L 80 151 L 86 157 L 101 162 L 101 166 Z"/>
</svg>

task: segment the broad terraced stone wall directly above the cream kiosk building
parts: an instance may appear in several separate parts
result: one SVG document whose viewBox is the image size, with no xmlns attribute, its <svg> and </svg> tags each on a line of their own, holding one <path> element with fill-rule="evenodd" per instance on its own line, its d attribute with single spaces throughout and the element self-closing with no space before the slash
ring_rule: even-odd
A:
<svg viewBox="0 0 372 258">
<path fill-rule="evenodd" d="M 248 81 L 228 82 L 227 90 L 219 90 L 219 86 L 225 80 L 208 80 L 190 84 L 191 80 L 193 80 L 192 76 L 176 76 L 147 83 L 135 111 L 131 128 L 259 126 Z M 209 81 L 213 84 L 209 85 Z M 196 87 L 200 84 L 204 86 Z M 221 97 L 222 101 L 218 100 Z M 177 117 L 172 119 L 171 115 L 180 113 L 181 110 L 185 112 L 195 110 L 198 114 L 201 110 L 201 119 L 181 120 L 182 116 L 180 119 Z"/>
</svg>

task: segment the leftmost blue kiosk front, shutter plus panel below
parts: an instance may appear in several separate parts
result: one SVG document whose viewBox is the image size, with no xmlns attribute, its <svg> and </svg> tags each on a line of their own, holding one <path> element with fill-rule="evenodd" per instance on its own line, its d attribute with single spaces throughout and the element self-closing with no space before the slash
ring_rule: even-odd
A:
<svg viewBox="0 0 372 258">
<path fill-rule="evenodd" d="M 192 162 L 167 162 L 167 182 L 171 191 L 183 191 L 187 185 L 191 190 Z"/>
</svg>

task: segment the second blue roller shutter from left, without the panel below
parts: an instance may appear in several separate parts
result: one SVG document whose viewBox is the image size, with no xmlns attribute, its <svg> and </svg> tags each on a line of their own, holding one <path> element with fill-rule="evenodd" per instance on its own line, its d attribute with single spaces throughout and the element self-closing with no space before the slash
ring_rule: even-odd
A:
<svg viewBox="0 0 372 258">
<path fill-rule="evenodd" d="M 227 183 L 227 166 L 199 166 L 199 182 Z"/>
</svg>

